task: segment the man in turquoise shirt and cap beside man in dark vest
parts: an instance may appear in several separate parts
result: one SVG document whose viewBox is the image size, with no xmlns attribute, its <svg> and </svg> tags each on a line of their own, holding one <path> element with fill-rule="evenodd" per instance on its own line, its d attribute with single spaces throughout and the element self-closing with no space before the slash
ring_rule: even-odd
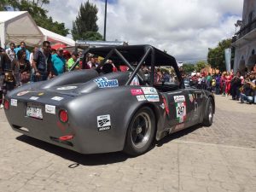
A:
<svg viewBox="0 0 256 192">
<path fill-rule="evenodd" d="M 57 49 L 56 54 L 51 56 L 51 63 L 52 63 L 53 77 L 66 72 L 66 67 L 65 67 L 66 61 L 63 57 L 62 48 Z"/>
</svg>

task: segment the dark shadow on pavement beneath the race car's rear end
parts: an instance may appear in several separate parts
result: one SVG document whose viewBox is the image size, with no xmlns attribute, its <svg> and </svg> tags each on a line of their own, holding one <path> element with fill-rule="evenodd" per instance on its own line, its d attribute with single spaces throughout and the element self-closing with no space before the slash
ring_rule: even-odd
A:
<svg viewBox="0 0 256 192">
<path fill-rule="evenodd" d="M 21 135 L 16 137 L 17 140 L 35 146 L 36 148 L 44 149 L 51 154 L 56 154 L 64 159 L 71 160 L 74 162 L 74 167 L 71 165 L 70 168 L 75 168 L 75 164 L 80 164 L 83 166 L 99 166 L 118 163 L 132 158 L 128 154 L 121 152 L 108 153 L 108 154 L 79 154 L 75 151 L 69 150 L 67 148 L 61 148 L 59 146 L 46 143 L 44 141 L 35 139 L 33 137 L 28 137 L 26 135 Z"/>
</svg>

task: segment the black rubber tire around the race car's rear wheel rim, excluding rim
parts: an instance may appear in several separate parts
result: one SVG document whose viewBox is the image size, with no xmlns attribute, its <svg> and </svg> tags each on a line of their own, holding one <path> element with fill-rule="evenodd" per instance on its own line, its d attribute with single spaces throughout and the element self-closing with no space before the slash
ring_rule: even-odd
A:
<svg viewBox="0 0 256 192">
<path fill-rule="evenodd" d="M 132 142 L 131 142 L 131 129 L 132 129 L 132 125 L 133 122 L 135 120 L 135 118 L 137 117 L 137 115 L 139 113 L 148 113 L 150 120 L 151 120 L 151 125 L 152 125 L 152 129 L 150 131 L 150 135 L 148 137 L 148 142 L 142 147 L 142 148 L 136 148 L 135 146 L 133 146 Z M 137 156 L 140 154 L 144 154 L 148 151 L 148 149 L 150 148 L 151 144 L 153 143 L 154 140 L 154 131 L 155 131 L 155 117 L 154 117 L 154 112 L 151 108 L 148 107 L 143 107 L 137 110 L 137 113 L 135 113 L 131 119 L 129 128 L 126 132 L 126 139 L 125 139 L 125 148 L 124 148 L 124 152 L 125 154 L 130 154 L 132 156 Z"/>
</svg>

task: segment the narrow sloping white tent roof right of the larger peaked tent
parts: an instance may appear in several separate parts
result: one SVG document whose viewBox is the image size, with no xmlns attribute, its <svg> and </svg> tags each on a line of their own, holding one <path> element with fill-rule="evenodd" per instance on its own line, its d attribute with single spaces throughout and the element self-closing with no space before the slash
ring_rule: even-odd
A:
<svg viewBox="0 0 256 192">
<path fill-rule="evenodd" d="M 54 39 L 57 42 L 61 42 L 63 44 L 67 44 L 68 46 L 74 46 L 75 42 L 73 39 L 71 38 L 66 38 L 64 36 L 61 36 L 55 32 L 50 32 L 47 29 L 44 29 L 43 27 L 39 26 L 40 31 L 44 34 L 45 37 L 50 38 L 50 39 Z"/>
</svg>

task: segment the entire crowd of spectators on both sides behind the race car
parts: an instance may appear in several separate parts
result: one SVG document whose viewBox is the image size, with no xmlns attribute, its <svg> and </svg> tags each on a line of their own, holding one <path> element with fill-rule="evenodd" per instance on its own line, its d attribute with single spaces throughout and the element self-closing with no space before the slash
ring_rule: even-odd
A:
<svg viewBox="0 0 256 192">
<path fill-rule="evenodd" d="M 3 108 L 3 97 L 9 90 L 22 84 L 44 81 L 55 78 L 62 73 L 70 71 L 81 52 L 73 51 L 69 54 L 64 49 L 51 49 L 49 41 L 44 41 L 41 48 L 35 47 L 32 53 L 26 49 L 26 43 L 20 42 L 16 47 L 14 43 L 9 44 L 8 49 L 0 49 L 0 108 Z M 97 55 L 88 55 L 85 61 L 79 61 L 74 70 L 96 68 L 99 65 Z M 127 71 L 128 67 L 119 66 L 119 71 Z M 143 66 L 142 72 L 149 76 L 150 69 Z M 102 67 L 102 73 L 118 71 L 113 61 L 108 60 Z M 186 77 L 182 67 L 180 73 L 183 79 L 189 79 L 189 85 L 198 89 L 209 90 L 216 95 L 232 96 L 233 100 L 255 103 L 256 102 L 256 64 L 244 75 L 238 71 L 223 73 L 195 73 Z M 154 84 L 175 83 L 177 76 L 168 73 L 168 70 L 155 68 Z M 131 84 L 138 84 L 134 79 Z"/>
</svg>

